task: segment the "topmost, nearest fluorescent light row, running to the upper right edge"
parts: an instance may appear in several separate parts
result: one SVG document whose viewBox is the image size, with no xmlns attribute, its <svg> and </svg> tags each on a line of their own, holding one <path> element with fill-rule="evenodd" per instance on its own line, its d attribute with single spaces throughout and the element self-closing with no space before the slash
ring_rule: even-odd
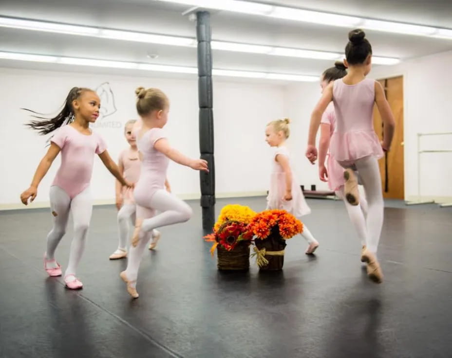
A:
<svg viewBox="0 0 452 358">
<path fill-rule="evenodd" d="M 441 29 L 433 26 L 407 24 L 403 22 L 374 20 L 320 11 L 304 10 L 285 6 L 272 6 L 259 2 L 241 0 L 154 0 L 173 2 L 189 6 L 204 7 L 207 9 L 226 10 L 270 18 L 310 22 L 327 26 L 359 27 L 375 31 L 395 34 L 431 36 L 452 39 L 452 29 Z"/>
</svg>

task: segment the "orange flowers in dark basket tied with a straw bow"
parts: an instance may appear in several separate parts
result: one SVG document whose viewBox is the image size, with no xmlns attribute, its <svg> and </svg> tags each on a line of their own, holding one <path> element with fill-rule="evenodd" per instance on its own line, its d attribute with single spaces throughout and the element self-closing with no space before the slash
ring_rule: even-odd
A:
<svg viewBox="0 0 452 358">
<path fill-rule="evenodd" d="M 254 253 L 261 270 L 280 270 L 284 264 L 286 239 L 303 232 L 303 224 L 285 210 L 265 210 L 248 224 L 254 235 Z"/>
</svg>

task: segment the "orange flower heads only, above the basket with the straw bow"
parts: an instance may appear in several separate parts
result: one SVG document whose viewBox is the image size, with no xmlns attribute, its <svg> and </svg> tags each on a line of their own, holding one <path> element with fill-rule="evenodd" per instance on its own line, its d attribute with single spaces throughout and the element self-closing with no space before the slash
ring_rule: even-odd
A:
<svg viewBox="0 0 452 358">
<path fill-rule="evenodd" d="M 251 219 L 248 230 L 256 236 L 256 239 L 263 240 L 271 234 L 279 234 L 283 239 L 290 239 L 303 232 L 303 224 L 285 210 L 265 210 Z"/>
</svg>

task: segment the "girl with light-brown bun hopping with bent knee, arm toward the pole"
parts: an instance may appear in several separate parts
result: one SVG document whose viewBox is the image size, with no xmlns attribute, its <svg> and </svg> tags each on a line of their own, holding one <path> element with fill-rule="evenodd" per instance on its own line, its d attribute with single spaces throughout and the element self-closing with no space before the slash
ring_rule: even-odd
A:
<svg viewBox="0 0 452 358">
<path fill-rule="evenodd" d="M 141 174 L 133 193 L 136 202 L 135 230 L 132 236 L 127 269 L 120 273 L 127 291 L 138 297 L 136 279 L 143 251 L 153 229 L 187 221 L 191 208 L 187 203 L 164 190 L 169 159 L 195 170 L 208 171 L 207 161 L 190 159 L 172 148 L 163 127 L 168 121 L 169 100 L 161 90 L 139 87 L 136 109 L 142 125 L 136 132 L 141 155 Z M 159 214 L 155 215 L 154 211 Z"/>
</svg>

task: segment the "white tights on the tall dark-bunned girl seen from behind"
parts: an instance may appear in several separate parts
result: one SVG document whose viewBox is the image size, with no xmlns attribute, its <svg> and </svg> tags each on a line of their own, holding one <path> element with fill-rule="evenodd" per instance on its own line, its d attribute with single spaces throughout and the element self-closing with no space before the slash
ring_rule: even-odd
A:
<svg viewBox="0 0 452 358">
<path fill-rule="evenodd" d="M 347 163 L 339 162 L 339 164 L 344 168 L 349 167 Z M 364 187 L 367 198 L 367 249 L 374 254 L 377 254 L 378 242 L 380 241 L 381 228 L 383 226 L 384 207 L 383 193 L 381 190 L 380 169 L 378 167 L 377 159 L 373 156 L 360 158 L 355 161 L 355 165 L 358 171 L 358 175 L 362 180 L 362 185 Z M 356 209 L 355 211 L 357 210 L 358 209 Z M 360 211 L 362 212 L 362 210 Z M 356 216 L 358 217 L 358 215 Z"/>
</svg>

